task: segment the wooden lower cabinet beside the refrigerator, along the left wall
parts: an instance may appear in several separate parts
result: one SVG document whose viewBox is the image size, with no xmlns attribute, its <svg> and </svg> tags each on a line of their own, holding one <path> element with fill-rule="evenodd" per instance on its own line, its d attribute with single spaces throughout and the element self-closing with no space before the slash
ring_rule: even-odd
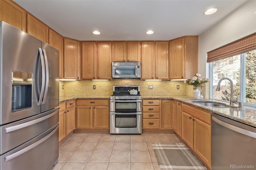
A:
<svg viewBox="0 0 256 170">
<path fill-rule="evenodd" d="M 75 101 L 60 103 L 59 141 L 75 129 Z"/>
</svg>

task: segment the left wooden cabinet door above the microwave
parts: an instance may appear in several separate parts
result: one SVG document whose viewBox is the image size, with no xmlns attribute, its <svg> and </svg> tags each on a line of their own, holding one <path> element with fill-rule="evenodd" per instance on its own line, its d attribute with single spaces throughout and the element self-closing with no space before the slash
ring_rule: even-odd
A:
<svg viewBox="0 0 256 170">
<path fill-rule="evenodd" d="M 112 61 L 113 62 L 127 61 L 126 60 L 126 42 L 113 42 Z"/>
</svg>

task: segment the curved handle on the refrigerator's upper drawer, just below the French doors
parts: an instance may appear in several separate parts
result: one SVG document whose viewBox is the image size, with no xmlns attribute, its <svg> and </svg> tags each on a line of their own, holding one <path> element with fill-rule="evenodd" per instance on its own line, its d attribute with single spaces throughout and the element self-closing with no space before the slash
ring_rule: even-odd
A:
<svg viewBox="0 0 256 170">
<path fill-rule="evenodd" d="M 28 127 L 30 125 L 34 125 L 34 124 L 36 124 L 38 122 L 42 122 L 42 121 L 44 121 L 46 119 L 49 119 L 50 117 L 54 116 L 56 114 L 56 112 L 58 112 L 58 110 L 56 110 L 53 113 L 51 113 L 49 115 L 46 115 L 44 117 L 40 117 L 38 119 L 35 119 L 33 121 L 29 121 L 29 122 L 26 122 L 26 123 L 22 123 L 20 125 L 15 125 L 15 126 L 12 126 L 12 127 L 5 128 L 5 133 L 13 132 L 15 130 L 19 130 L 21 128 Z"/>
</svg>

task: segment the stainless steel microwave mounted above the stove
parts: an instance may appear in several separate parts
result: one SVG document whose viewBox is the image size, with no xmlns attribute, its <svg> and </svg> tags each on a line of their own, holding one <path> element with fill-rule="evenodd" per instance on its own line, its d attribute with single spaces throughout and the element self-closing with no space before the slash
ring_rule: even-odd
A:
<svg viewBox="0 0 256 170">
<path fill-rule="evenodd" d="M 113 78 L 140 78 L 140 62 L 112 62 Z"/>
</svg>

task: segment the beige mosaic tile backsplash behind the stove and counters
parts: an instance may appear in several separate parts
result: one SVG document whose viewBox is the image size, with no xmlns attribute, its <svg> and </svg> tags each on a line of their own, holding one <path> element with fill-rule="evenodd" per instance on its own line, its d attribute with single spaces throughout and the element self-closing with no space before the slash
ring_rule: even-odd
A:
<svg viewBox="0 0 256 170">
<path fill-rule="evenodd" d="M 62 89 L 64 85 L 64 89 Z M 93 89 L 96 85 L 96 89 Z M 60 81 L 60 96 L 63 95 L 88 95 L 110 96 L 113 94 L 114 85 L 140 85 L 140 94 L 144 96 L 193 96 L 193 88 L 183 81 L 144 81 L 138 79 L 114 79 L 110 81 Z M 148 86 L 152 85 L 153 89 Z M 176 89 L 179 85 L 180 89 Z"/>
</svg>

